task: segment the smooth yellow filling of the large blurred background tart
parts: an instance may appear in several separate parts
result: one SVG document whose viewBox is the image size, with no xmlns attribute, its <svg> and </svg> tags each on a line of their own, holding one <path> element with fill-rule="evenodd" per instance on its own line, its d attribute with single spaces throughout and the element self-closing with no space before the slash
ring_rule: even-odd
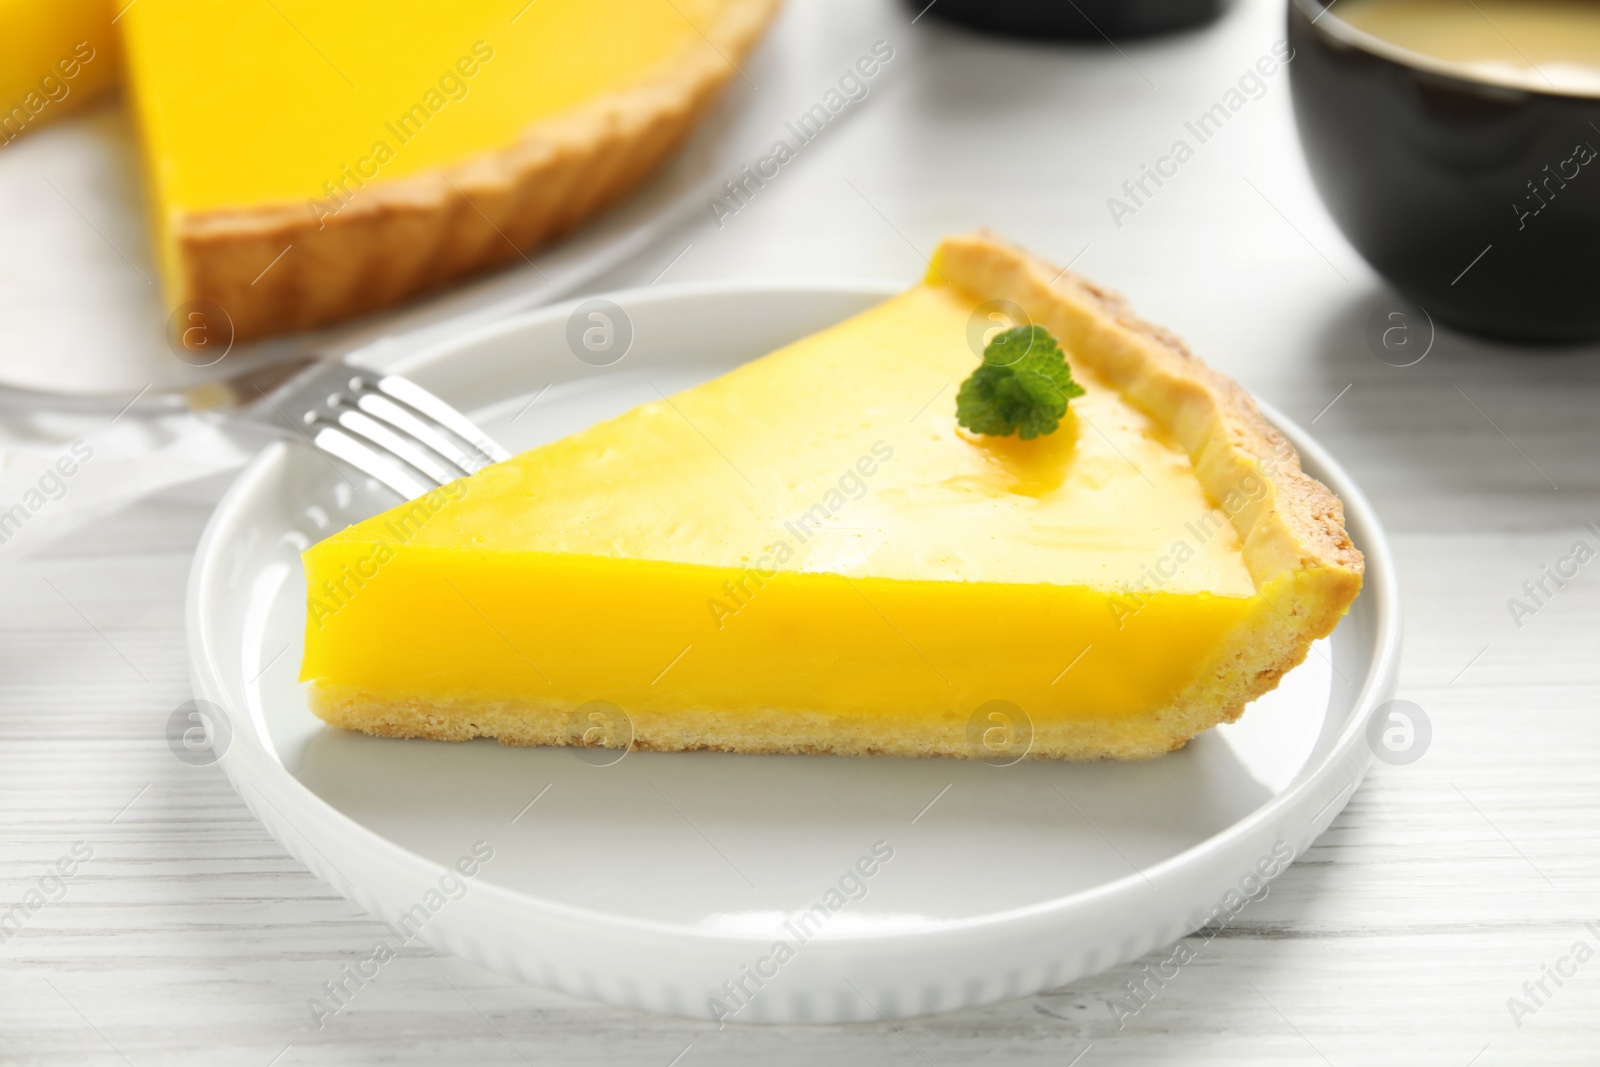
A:
<svg viewBox="0 0 1600 1067">
<path fill-rule="evenodd" d="M 722 6 L 138 0 L 120 22 L 155 200 L 203 211 L 330 197 L 509 146 L 701 40 L 696 24 Z"/>
</svg>

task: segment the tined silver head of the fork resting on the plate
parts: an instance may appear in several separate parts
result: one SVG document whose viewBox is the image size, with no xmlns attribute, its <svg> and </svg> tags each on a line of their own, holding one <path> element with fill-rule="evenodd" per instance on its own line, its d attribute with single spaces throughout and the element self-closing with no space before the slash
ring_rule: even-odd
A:
<svg viewBox="0 0 1600 1067">
<path fill-rule="evenodd" d="M 254 402 L 240 411 L 245 421 L 288 429 L 408 501 L 510 459 L 467 416 L 411 379 L 344 362 L 315 363 L 270 392 L 250 376 L 213 389 L 232 394 L 213 395 L 213 403 L 248 402 L 253 390 Z"/>
</svg>

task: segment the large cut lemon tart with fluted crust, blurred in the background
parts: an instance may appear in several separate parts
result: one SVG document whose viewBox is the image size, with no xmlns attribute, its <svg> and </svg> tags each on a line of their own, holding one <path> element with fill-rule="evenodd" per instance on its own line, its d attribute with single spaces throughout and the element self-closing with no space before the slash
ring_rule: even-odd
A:
<svg viewBox="0 0 1600 1067">
<path fill-rule="evenodd" d="M 250 339 L 515 259 L 614 202 L 776 0 L 117 6 L 168 302 Z"/>
</svg>

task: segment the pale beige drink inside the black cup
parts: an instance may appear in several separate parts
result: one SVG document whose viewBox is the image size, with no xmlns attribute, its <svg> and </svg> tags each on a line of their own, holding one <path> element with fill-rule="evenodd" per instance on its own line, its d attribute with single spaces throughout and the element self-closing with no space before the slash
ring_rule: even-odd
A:
<svg viewBox="0 0 1600 1067">
<path fill-rule="evenodd" d="M 1594 0 L 1339 0 L 1330 14 L 1483 82 L 1600 96 Z"/>
</svg>

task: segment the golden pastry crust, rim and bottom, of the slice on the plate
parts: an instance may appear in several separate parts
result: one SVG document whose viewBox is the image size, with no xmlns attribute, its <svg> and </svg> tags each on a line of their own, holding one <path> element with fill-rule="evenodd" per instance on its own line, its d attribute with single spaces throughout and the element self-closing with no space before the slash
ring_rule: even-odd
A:
<svg viewBox="0 0 1600 1067">
<path fill-rule="evenodd" d="M 1250 395 L 1210 370 L 1165 330 L 1086 280 L 1059 272 L 989 234 L 939 246 L 933 275 L 987 299 L 1006 299 L 1046 326 L 1074 363 L 1115 386 L 1162 422 L 1189 453 L 1214 501 L 1259 478 L 1266 485 L 1232 523 L 1259 606 L 1222 641 L 1173 702 L 1117 720 L 1035 717 L 1029 758 L 1136 760 L 1181 749 L 1195 734 L 1234 721 L 1277 686 L 1326 637 L 1362 589 L 1362 553 L 1344 530 L 1344 507 L 1304 474 L 1282 434 Z M 328 723 L 386 737 L 510 745 L 582 744 L 573 707 L 530 701 L 395 699 L 310 686 L 312 709 Z M 747 753 L 982 757 L 966 718 L 837 717 L 806 709 L 629 709 L 634 747 L 714 749 Z"/>
</svg>

